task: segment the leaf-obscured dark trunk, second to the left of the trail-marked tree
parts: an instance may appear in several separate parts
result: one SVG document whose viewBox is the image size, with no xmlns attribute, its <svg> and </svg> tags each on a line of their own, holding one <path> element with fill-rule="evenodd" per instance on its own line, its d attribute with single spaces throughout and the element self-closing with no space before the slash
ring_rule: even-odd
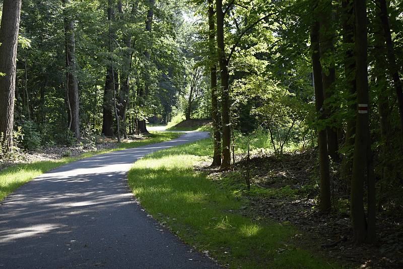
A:
<svg viewBox="0 0 403 269">
<path fill-rule="evenodd" d="M 333 11 L 331 0 L 321 1 L 321 12 L 319 13 L 319 43 L 320 43 L 320 59 L 322 62 L 329 62 L 334 54 L 333 44 Z M 330 61 L 328 66 L 322 64 L 322 80 L 323 80 L 323 93 L 325 99 L 331 99 L 334 94 L 334 84 L 336 80 L 334 61 Z M 334 108 L 332 104 L 328 104 L 326 109 L 327 117 L 331 117 L 334 114 Z M 328 155 L 333 159 L 339 159 L 338 150 L 339 143 L 337 139 L 337 128 L 335 126 L 327 126 L 327 151 Z"/>
</svg>

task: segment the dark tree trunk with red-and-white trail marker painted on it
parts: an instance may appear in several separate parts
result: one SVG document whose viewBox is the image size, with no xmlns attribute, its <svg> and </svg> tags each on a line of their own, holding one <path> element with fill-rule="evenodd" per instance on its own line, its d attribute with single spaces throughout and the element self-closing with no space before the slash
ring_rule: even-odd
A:
<svg viewBox="0 0 403 269">
<path fill-rule="evenodd" d="M 356 135 L 353 159 L 353 176 L 351 182 L 351 217 L 354 236 L 357 243 L 371 241 L 368 235 L 367 220 L 364 212 L 364 182 L 369 179 L 372 167 L 368 165 L 370 143 L 368 127 L 368 66 L 367 66 L 367 10 L 366 2 L 355 0 L 356 14 L 356 83 L 357 83 L 357 112 Z M 368 180 L 368 183 L 371 183 Z M 372 186 L 369 186 L 369 189 Z M 372 197 L 371 197 L 372 198 Z M 374 220 L 371 220 L 374 221 Z M 372 226 L 373 224 L 370 224 Z M 374 225 L 373 225 L 374 226 Z"/>
</svg>

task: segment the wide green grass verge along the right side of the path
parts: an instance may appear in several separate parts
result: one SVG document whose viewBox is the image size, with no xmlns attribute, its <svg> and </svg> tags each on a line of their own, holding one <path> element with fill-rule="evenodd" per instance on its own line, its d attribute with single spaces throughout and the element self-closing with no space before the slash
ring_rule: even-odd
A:
<svg viewBox="0 0 403 269">
<path fill-rule="evenodd" d="M 212 154 L 211 148 L 206 139 L 137 161 L 128 182 L 142 206 L 186 243 L 232 268 L 338 267 L 293 244 L 298 233 L 293 226 L 239 215 L 247 206 L 239 193 L 193 170 L 195 162 Z"/>
</svg>

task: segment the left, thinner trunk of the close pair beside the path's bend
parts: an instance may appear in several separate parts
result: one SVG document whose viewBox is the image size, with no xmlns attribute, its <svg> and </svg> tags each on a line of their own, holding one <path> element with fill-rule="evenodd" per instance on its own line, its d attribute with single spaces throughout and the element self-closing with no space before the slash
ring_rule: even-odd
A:
<svg viewBox="0 0 403 269">
<path fill-rule="evenodd" d="M 221 165 L 221 132 L 220 132 L 220 110 L 218 107 L 217 94 L 217 62 L 216 62 L 216 27 L 214 23 L 214 2 L 208 1 L 209 5 L 209 47 L 210 47 L 210 88 L 211 105 L 213 118 L 213 140 L 214 154 L 212 166 Z"/>
</svg>

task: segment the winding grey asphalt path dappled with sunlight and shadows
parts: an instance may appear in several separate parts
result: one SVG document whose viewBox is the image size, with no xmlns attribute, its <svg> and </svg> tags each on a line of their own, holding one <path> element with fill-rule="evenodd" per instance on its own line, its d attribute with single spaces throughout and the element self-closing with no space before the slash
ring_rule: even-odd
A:
<svg viewBox="0 0 403 269">
<path fill-rule="evenodd" d="M 147 217 L 126 182 L 144 155 L 207 137 L 98 155 L 23 185 L 0 206 L 0 269 L 218 267 Z"/>
</svg>

